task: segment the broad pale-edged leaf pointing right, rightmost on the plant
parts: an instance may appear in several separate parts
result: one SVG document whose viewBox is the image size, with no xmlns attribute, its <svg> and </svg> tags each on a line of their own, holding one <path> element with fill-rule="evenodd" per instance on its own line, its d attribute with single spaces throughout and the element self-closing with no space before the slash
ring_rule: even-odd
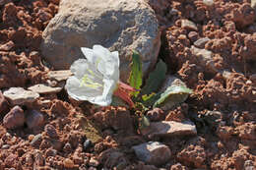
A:
<svg viewBox="0 0 256 170">
<path fill-rule="evenodd" d="M 186 86 L 171 85 L 160 94 L 160 98 L 155 102 L 154 107 L 170 109 L 174 105 L 184 102 L 190 93 L 193 93 L 192 89 Z"/>
</svg>

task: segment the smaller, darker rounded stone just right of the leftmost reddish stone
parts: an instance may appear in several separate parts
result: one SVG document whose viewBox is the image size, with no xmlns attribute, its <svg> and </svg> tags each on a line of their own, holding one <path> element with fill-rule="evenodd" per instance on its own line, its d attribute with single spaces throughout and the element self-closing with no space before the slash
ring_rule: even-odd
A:
<svg viewBox="0 0 256 170">
<path fill-rule="evenodd" d="M 43 115 L 36 110 L 30 111 L 26 116 L 26 123 L 30 129 L 39 127 L 43 123 Z"/>
</svg>

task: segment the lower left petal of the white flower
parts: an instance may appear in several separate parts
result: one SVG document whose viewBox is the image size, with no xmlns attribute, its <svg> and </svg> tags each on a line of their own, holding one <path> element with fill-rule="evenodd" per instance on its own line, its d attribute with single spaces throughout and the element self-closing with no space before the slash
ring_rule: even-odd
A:
<svg viewBox="0 0 256 170">
<path fill-rule="evenodd" d="M 65 88 L 68 94 L 76 100 L 94 100 L 103 91 L 103 86 L 91 87 L 81 85 L 81 80 L 74 76 L 67 80 Z"/>
</svg>

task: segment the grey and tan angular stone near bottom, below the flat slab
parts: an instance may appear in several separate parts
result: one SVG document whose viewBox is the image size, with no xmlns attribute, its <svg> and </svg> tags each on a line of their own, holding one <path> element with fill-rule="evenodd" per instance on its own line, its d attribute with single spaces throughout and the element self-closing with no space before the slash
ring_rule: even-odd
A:
<svg viewBox="0 0 256 170">
<path fill-rule="evenodd" d="M 145 142 L 132 148 L 140 160 L 152 165 L 166 163 L 171 155 L 169 147 L 160 142 Z"/>
</svg>

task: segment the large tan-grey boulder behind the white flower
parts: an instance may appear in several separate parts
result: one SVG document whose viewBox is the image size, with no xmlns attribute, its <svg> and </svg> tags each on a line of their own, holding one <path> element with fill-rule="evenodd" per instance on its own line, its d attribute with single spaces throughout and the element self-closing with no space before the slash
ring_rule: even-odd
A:
<svg viewBox="0 0 256 170">
<path fill-rule="evenodd" d="M 157 17 L 144 0 L 61 1 L 42 37 L 42 55 L 57 70 L 69 69 L 75 60 L 84 58 L 80 47 L 100 44 L 119 51 L 123 81 L 129 76 L 132 49 L 142 56 L 144 74 L 155 65 L 160 51 Z"/>
</svg>

